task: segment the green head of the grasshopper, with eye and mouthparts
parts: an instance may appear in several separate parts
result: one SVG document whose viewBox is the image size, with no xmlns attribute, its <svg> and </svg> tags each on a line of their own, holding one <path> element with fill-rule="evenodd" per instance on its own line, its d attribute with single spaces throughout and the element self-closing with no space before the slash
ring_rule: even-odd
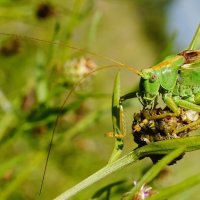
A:
<svg viewBox="0 0 200 200">
<path fill-rule="evenodd" d="M 139 99 L 145 107 L 148 105 L 153 106 L 156 97 L 159 95 L 159 74 L 156 70 L 148 68 L 143 69 L 140 75 Z"/>
</svg>

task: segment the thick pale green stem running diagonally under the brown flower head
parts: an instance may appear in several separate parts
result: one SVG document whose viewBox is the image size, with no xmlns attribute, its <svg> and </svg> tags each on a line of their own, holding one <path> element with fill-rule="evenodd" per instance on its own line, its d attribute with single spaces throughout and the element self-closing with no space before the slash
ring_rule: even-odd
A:
<svg viewBox="0 0 200 200">
<path fill-rule="evenodd" d="M 155 142 L 141 148 L 138 148 L 129 154 L 125 155 L 121 159 L 108 164 L 96 173 L 92 174 L 88 178 L 84 179 L 74 187 L 68 189 L 64 193 L 56 197 L 56 200 L 69 199 L 70 197 L 76 195 L 83 189 L 89 187 L 90 185 L 96 183 L 102 178 L 116 172 L 125 166 L 137 161 L 138 159 L 152 155 L 152 154 L 168 154 L 171 151 L 178 149 L 180 147 L 185 147 L 185 151 L 194 151 L 200 149 L 200 136 L 193 136 L 188 138 L 165 140 L 160 142 Z"/>
</svg>

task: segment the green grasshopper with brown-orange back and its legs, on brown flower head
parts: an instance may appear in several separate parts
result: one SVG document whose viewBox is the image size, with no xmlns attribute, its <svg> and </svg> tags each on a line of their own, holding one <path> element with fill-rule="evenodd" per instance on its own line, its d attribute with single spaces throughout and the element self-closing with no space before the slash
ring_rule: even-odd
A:
<svg viewBox="0 0 200 200">
<path fill-rule="evenodd" d="M 195 50 L 194 47 L 199 34 L 200 26 L 188 50 L 168 56 L 159 64 L 136 72 L 141 77 L 137 91 L 124 96 L 113 97 L 113 131 L 116 140 L 110 162 L 118 158 L 123 147 L 122 139 L 125 135 L 122 119 L 123 101 L 138 98 L 144 109 L 155 109 L 158 104 L 157 99 L 159 95 L 162 95 L 165 105 L 172 112 L 153 116 L 146 115 L 149 120 L 179 116 L 181 114 L 180 108 L 200 112 L 200 50 Z M 117 86 L 115 87 L 117 88 Z M 115 93 L 119 92 L 115 91 Z M 175 132 L 187 130 L 199 123 L 200 120 L 197 120 Z M 175 132 L 172 134 L 175 134 Z"/>
</svg>

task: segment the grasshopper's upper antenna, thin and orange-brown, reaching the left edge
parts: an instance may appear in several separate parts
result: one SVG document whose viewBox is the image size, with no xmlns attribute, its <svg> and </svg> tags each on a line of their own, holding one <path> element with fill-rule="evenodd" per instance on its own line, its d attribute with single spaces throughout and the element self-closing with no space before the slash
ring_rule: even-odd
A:
<svg viewBox="0 0 200 200">
<path fill-rule="evenodd" d="M 21 38 L 21 39 L 24 39 L 24 40 L 33 40 L 33 41 L 38 41 L 38 42 L 44 42 L 44 43 L 49 44 L 49 45 L 55 44 L 55 45 L 68 47 L 70 49 L 74 49 L 74 50 L 77 50 L 77 51 L 80 51 L 80 52 L 85 52 L 85 53 L 88 53 L 90 55 L 93 55 L 93 56 L 100 57 L 100 58 L 103 58 L 105 60 L 111 61 L 111 62 L 115 63 L 116 65 L 118 65 L 120 67 L 129 68 L 129 70 L 133 71 L 135 74 L 140 75 L 140 72 L 138 70 L 136 70 L 133 67 L 131 67 L 131 66 L 127 65 L 127 64 L 124 64 L 124 63 L 122 63 L 122 62 L 120 62 L 118 60 L 115 60 L 115 59 L 113 59 L 113 58 L 111 58 L 109 56 L 105 56 L 105 55 L 102 55 L 102 54 L 91 52 L 91 51 L 86 50 L 86 49 L 82 49 L 82 48 L 78 48 L 78 47 L 75 47 L 75 46 L 71 46 L 71 45 L 65 44 L 64 42 L 52 42 L 52 41 L 48 41 L 48 40 L 42 40 L 42 39 L 38 39 L 38 38 L 34 38 L 34 37 L 29 37 L 29 36 L 24 36 L 24 35 L 17 35 L 17 34 L 12 34 L 12 33 L 2 33 L 2 32 L 0 32 L 0 35 L 16 37 L 16 38 L 19 38 L 19 39 Z"/>
</svg>

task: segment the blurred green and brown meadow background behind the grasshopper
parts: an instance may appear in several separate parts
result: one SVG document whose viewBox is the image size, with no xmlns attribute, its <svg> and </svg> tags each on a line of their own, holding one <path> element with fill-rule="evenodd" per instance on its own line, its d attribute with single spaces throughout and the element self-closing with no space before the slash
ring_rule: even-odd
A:
<svg viewBox="0 0 200 200">
<path fill-rule="evenodd" d="M 175 41 L 181 32 L 170 29 L 173 5 L 179 12 L 177 2 L 1 0 L 0 32 L 18 37 L 0 35 L 0 199 L 52 199 L 106 165 L 114 139 L 105 134 L 112 131 L 112 87 L 119 69 L 88 77 L 68 99 L 38 197 L 53 126 L 67 92 L 86 72 L 113 64 L 101 55 L 142 69 L 180 49 L 181 41 Z M 186 14 L 182 13 L 182 22 Z M 195 25 L 187 29 L 191 39 Z M 65 42 L 99 56 L 33 38 Z M 127 70 L 121 74 L 122 94 L 137 88 L 139 77 Z M 133 113 L 142 108 L 137 99 L 125 107 L 124 154 L 136 147 L 131 121 Z M 199 152 L 188 153 L 178 164 L 167 167 L 152 186 L 159 190 L 195 174 L 198 158 Z M 149 159 L 141 160 L 74 199 L 90 199 L 101 187 L 124 180 L 113 188 L 110 198 L 120 199 L 151 165 Z M 198 199 L 199 187 L 171 199 Z M 106 199 L 105 194 L 99 199 Z"/>
</svg>

